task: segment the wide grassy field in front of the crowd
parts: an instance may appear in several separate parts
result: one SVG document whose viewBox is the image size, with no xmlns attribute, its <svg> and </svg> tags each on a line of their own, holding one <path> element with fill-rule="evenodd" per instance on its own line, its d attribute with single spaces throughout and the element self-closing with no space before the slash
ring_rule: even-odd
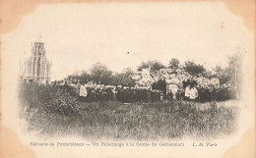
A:
<svg viewBox="0 0 256 158">
<path fill-rule="evenodd" d="M 53 91 L 28 101 L 22 117 L 39 135 L 78 134 L 87 138 L 155 139 L 217 138 L 234 132 L 237 108 L 232 102 L 159 103 L 81 102 L 65 91 Z M 31 98 L 31 97 L 30 97 Z M 226 104 L 226 105 L 224 105 Z M 228 104 L 228 105 L 227 105 Z"/>
</svg>

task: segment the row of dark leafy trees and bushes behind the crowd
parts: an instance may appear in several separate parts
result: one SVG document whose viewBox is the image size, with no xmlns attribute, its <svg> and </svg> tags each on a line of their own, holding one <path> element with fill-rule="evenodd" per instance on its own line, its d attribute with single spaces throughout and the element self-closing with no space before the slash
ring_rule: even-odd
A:
<svg viewBox="0 0 256 158">
<path fill-rule="evenodd" d="M 218 78 L 221 84 L 229 83 L 232 87 L 236 87 L 239 91 L 239 84 L 241 83 L 241 55 L 234 54 L 228 57 L 228 65 L 222 67 L 217 65 L 213 70 L 206 70 L 204 65 L 195 63 L 194 61 L 186 61 L 184 65 L 180 64 L 178 59 L 172 58 L 169 61 L 167 67 L 165 67 L 159 61 L 148 61 L 142 62 L 138 67 L 137 71 L 142 69 L 151 68 L 151 72 L 159 71 L 163 68 L 170 68 L 173 70 L 183 67 L 187 73 L 192 76 L 202 75 L 208 79 Z M 123 85 L 123 86 L 134 86 L 135 81 L 131 79 L 134 72 L 130 68 L 126 68 L 122 73 L 113 73 L 108 70 L 106 66 L 101 63 L 96 63 L 90 69 L 90 72 L 82 72 L 81 75 L 70 75 L 67 79 L 77 79 L 81 82 L 87 82 L 94 80 L 96 83 L 110 84 L 110 85 Z"/>
</svg>

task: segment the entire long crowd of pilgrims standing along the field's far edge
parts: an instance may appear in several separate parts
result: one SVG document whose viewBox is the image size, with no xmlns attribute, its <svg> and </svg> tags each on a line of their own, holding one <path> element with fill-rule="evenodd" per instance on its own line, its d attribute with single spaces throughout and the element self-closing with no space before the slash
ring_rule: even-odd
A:
<svg viewBox="0 0 256 158">
<path fill-rule="evenodd" d="M 174 79 L 173 79 L 174 80 Z M 30 83 L 30 82 L 29 82 Z M 230 84 L 220 84 L 218 79 L 184 79 L 167 83 L 164 79 L 152 87 L 104 85 L 94 80 L 82 82 L 79 79 L 52 81 L 53 86 L 65 87 L 81 101 L 113 101 L 124 103 L 159 102 L 166 100 L 212 101 L 237 98 L 237 89 Z"/>
</svg>

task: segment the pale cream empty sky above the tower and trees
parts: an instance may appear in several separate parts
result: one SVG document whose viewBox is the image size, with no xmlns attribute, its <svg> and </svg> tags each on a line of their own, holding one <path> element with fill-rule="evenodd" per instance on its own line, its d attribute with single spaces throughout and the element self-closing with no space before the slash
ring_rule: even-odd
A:
<svg viewBox="0 0 256 158">
<path fill-rule="evenodd" d="M 221 2 L 41 5 L 2 37 L 1 52 L 16 72 L 32 42 L 44 42 L 52 77 L 62 79 L 97 61 L 114 72 L 148 60 L 167 65 L 171 58 L 224 66 L 228 54 L 253 51 L 252 39 Z"/>
</svg>

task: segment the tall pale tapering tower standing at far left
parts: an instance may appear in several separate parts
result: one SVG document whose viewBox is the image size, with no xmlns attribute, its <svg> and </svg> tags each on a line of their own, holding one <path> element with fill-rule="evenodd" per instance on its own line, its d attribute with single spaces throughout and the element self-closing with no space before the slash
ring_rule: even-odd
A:
<svg viewBox="0 0 256 158">
<path fill-rule="evenodd" d="M 32 56 L 21 62 L 21 79 L 25 82 L 48 84 L 51 79 L 51 63 L 45 56 L 44 43 L 34 42 Z"/>
</svg>

